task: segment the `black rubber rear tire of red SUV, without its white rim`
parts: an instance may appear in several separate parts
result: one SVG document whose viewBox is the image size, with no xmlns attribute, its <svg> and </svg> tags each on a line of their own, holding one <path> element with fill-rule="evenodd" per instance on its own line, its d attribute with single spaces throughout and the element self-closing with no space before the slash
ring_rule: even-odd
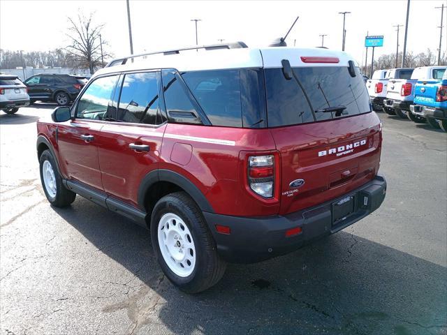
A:
<svg viewBox="0 0 447 335">
<path fill-rule="evenodd" d="M 163 258 L 159 246 L 159 222 L 164 214 L 175 214 L 182 219 L 191 232 L 196 262 L 189 276 L 177 276 Z M 215 285 L 226 269 L 224 262 L 217 254 L 216 243 L 207 227 L 205 218 L 189 195 L 184 192 L 170 193 L 159 200 L 154 206 L 151 219 L 152 247 L 156 258 L 169 280 L 180 290 L 197 293 Z"/>
</svg>

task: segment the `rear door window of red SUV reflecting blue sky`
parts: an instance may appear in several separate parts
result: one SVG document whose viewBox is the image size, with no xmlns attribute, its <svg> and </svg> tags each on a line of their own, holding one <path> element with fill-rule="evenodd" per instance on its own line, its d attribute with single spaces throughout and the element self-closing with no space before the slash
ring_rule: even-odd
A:
<svg viewBox="0 0 447 335">
<path fill-rule="evenodd" d="M 129 73 L 124 76 L 118 104 L 117 121 L 144 124 L 157 122 L 159 110 L 159 73 Z"/>
</svg>

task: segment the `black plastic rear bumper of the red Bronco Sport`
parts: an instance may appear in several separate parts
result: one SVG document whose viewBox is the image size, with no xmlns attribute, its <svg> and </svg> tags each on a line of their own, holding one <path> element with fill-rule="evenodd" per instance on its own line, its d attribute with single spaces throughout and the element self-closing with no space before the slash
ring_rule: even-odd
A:
<svg viewBox="0 0 447 335">
<path fill-rule="evenodd" d="M 386 180 L 381 175 L 342 197 L 284 216 L 240 217 L 204 212 L 217 243 L 219 255 L 227 262 L 251 263 L 284 255 L 325 235 L 352 225 L 378 209 L 385 199 Z M 352 196 L 354 211 L 332 225 L 332 204 Z M 219 234 L 215 225 L 230 227 L 230 234 Z M 300 227 L 302 232 L 286 237 L 286 231 Z"/>
</svg>

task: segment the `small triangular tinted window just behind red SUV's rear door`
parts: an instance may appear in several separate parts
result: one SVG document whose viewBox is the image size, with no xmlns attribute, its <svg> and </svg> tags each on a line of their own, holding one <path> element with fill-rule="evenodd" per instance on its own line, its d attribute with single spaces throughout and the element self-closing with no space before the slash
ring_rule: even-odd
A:
<svg viewBox="0 0 447 335">
<path fill-rule="evenodd" d="M 185 122 L 198 123 L 197 111 L 189 96 L 184 91 L 183 85 L 175 77 L 173 70 L 162 70 L 163 93 L 166 104 L 166 112 L 170 117 L 184 119 Z"/>
</svg>

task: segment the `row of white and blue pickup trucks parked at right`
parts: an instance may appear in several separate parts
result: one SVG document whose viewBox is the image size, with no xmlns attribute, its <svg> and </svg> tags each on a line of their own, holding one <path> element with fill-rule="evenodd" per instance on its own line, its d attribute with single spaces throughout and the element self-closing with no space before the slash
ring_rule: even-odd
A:
<svg viewBox="0 0 447 335">
<path fill-rule="evenodd" d="M 376 70 L 366 85 L 374 110 L 447 131 L 446 66 Z"/>
</svg>

